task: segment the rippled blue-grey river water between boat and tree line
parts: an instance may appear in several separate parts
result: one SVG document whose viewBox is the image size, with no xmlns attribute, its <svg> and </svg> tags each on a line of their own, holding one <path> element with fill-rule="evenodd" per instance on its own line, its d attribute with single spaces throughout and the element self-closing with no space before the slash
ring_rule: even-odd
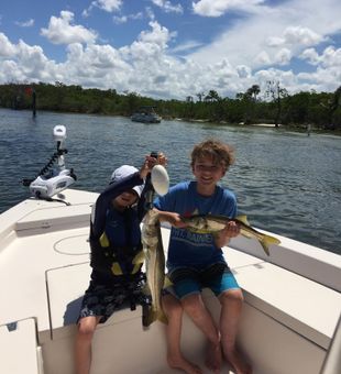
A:
<svg viewBox="0 0 341 374">
<path fill-rule="evenodd" d="M 64 124 L 73 188 L 101 191 L 121 164 L 140 166 L 151 151 L 168 156 L 170 184 L 193 178 L 194 144 L 219 138 L 235 150 L 222 185 L 238 197 L 252 226 L 341 254 L 341 138 L 260 127 L 182 121 L 160 124 L 122 117 L 0 109 L 0 211 L 30 196 L 33 178 L 56 151 L 53 128 Z"/>
</svg>

